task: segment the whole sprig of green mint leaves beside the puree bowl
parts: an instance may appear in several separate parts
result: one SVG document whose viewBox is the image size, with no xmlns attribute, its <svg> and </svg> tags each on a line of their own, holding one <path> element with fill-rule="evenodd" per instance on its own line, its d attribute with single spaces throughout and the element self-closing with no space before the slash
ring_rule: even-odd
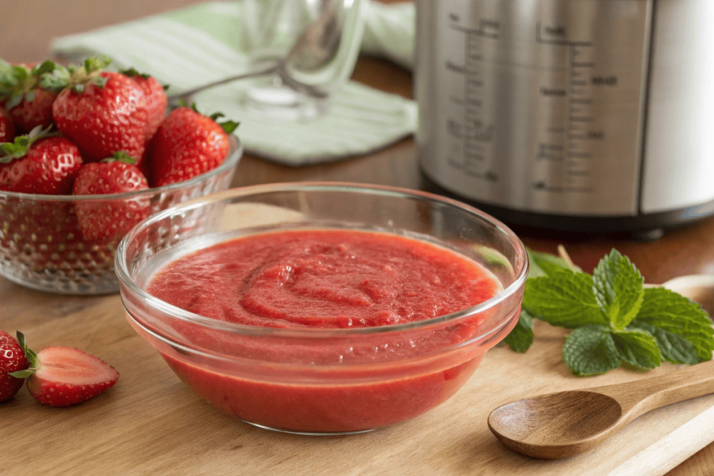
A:
<svg viewBox="0 0 714 476">
<path fill-rule="evenodd" d="M 644 288 L 630 260 L 612 250 L 593 275 L 560 258 L 528 252 L 531 273 L 523 313 L 505 342 L 516 352 L 533 343 L 532 318 L 573 329 L 563 345 L 575 375 L 595 375 L 623 362 L 649 370 L 663 361 L 710 360 L 714 328 L 692 300 L 665 288 Z"/>
</svg>

